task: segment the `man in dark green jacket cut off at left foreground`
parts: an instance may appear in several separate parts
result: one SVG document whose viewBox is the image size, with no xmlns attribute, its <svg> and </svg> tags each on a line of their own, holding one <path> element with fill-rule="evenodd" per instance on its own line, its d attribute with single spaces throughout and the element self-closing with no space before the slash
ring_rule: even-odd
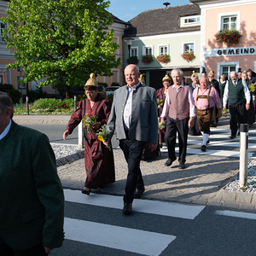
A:
<svg viewBox="0 0 256 256">
<path fill-rule="evenodd" d="M 0 92 L 0 255 L 48 255 L 64 238 L 55 154 L 46 135 L 17 125 L 13 114 Z"/>
</svg>

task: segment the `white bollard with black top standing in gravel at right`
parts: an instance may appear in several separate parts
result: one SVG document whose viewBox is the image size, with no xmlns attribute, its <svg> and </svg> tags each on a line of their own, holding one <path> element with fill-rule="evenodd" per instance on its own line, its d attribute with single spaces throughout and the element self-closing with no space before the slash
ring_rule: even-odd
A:
<svg viewBox="0 0 256 256">
<path fill-rule="evenodd" d="M 249 125 L 240 125 L 240 166 L 239 166 L 239 186 L 245 189 L 247 185 L 247 169 L 248 169 L 248 131 Z"/>
</svg>

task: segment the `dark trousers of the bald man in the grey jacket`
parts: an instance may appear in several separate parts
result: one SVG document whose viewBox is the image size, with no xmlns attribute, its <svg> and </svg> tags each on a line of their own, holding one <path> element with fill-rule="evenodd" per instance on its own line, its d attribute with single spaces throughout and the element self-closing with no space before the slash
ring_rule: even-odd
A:
<svg viewBox="0 0 256 256">
<path fill-rule="evenodd" d="M 143 156 L 145 142 L 126 138 L 119 141 L 119 146 L 123 150 L 125 160 L 128 164 L 124 202 L 132 203 L 136 188 L 142 188 L 144 186 L 140 161 Z"/>
</svg>

